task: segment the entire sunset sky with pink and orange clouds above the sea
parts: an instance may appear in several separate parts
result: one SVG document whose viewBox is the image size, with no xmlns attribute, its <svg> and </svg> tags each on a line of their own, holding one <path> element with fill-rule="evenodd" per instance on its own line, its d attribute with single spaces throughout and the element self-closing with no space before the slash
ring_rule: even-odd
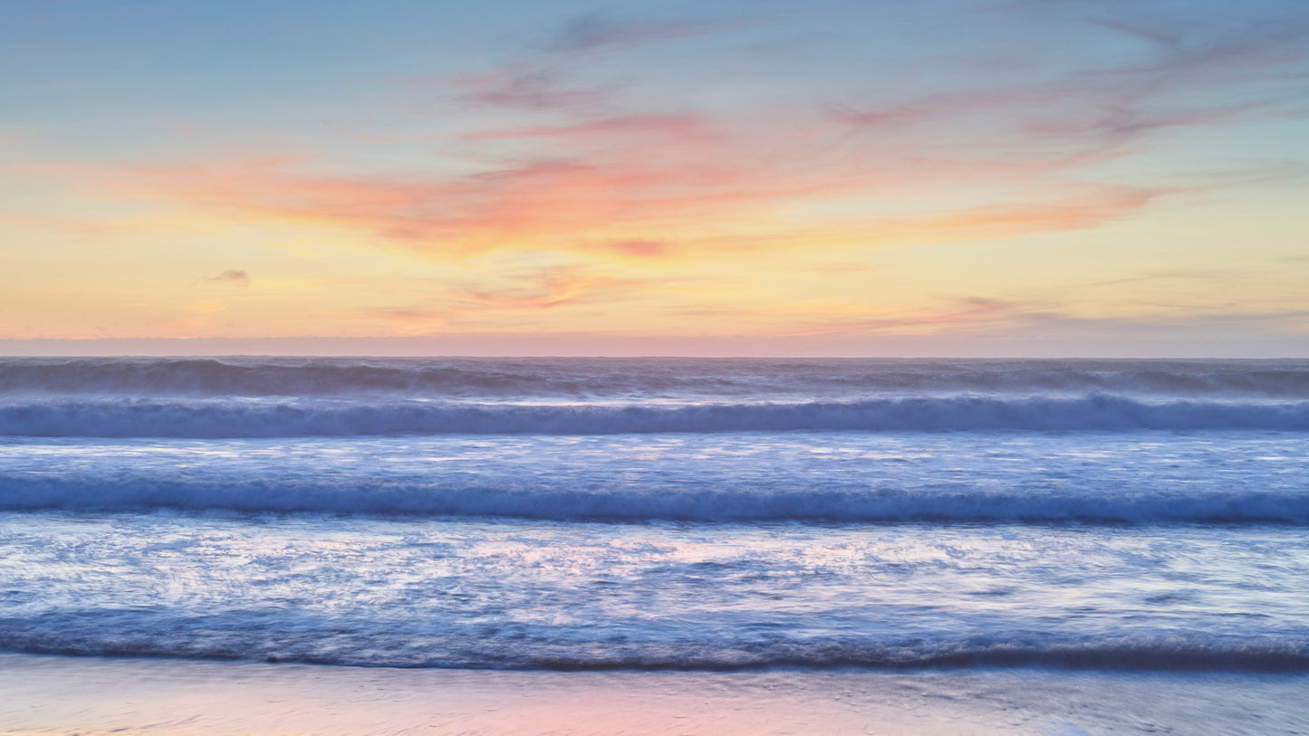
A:
<svg viewBox="0 0 1309 736">
<path fill-rule="evenodd" d="M 0 353 L 1309 357 L 1302 0 L 0 0 Z"/>
</svg>

